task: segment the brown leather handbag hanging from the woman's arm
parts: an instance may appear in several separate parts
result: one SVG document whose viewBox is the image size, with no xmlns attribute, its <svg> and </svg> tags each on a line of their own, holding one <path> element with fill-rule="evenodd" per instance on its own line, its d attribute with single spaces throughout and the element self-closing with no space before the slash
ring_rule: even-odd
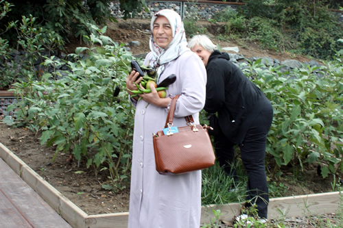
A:
<svg viewBox="0 0 343 228">
<path fill-rule="evenodd" d="M 161 175 L 188 173 L 215 164 L 215 154 L 207 132 L 209 126 L 196 125 L 190 115 L 185 117 L 187 126 L 178 127 L 175 133 L 173 118 L 179 96 L 171 101 L 165 132 L 158 131 L 152 136 L 156 170 Z"/>
</svg>

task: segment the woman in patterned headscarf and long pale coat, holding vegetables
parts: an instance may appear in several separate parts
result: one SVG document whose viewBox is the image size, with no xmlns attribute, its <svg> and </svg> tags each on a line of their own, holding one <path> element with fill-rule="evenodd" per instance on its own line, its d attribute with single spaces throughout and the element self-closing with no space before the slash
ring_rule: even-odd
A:
<svg viewBox="0 0 343 228">
<path fill-rule="evenodd" d="M 198 228 L 201 214 L 201 171 L 182 175 L 160 175 L 156 171 L 152 133 L 165 126 L 171 98 L 181 94 L 176 103 L 174 126 L 186 125 L 185 116 L 193 115 L 199 123 L 204 107 L 206 70 L 200 58 L 187 48 L 185 29 L 180 15 L 161 10 L 151 21 L 150 50 L 144 65 L 158 67 L 157 84 L 171 74 L 174 84 L 168 86 L 167 97 L 152 92 L 131 97 L 136 106 L 130 187 L 131 228 Z M 136 90 L 139 73 L 132 71 L 126 79 L 128 94 Z M 147 105 L 149 104 L 149 105 Z"/>
</svg>

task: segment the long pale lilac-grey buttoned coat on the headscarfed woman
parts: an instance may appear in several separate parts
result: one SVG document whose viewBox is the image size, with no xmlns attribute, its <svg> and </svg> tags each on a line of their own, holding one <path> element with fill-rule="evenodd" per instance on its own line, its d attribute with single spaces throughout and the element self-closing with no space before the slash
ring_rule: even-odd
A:
<svg viewBox="0 0 343 228">
<path fill-rule="evenodd" d="M 152 58 L 145 58 L 144 65 Z M 169 94 L 181 94 L 176 103 L 174 126 L 186 125 L 185 116 L 198 112 L 205 102 L 206 70 L 191 51 L 167 64 L 159 81 L 174 73 L 176 82 Z M 165 126 L 167 108 L 138 101 L 134 117 L 132 177 L 130 189 L 130 228 L 199 228 L 201 211 L 201 171 L 183 175 L 160 175 L 156 171 L 152 133 Z"/>
</svg>

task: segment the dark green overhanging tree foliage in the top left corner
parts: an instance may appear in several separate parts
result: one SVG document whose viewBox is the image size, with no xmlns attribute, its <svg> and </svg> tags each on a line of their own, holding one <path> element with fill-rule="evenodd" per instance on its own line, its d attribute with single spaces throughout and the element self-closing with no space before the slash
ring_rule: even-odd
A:
<svg viewBox="0 0 343 228">
<path fill-rule="evenodd" d="M 88 23 L 104 25 L 110 18 L 109 0 L 84 1 L 81 0 L 45 0 L 45 1 L 11 1 L 12 11 L 3 19 L 0 29 L 10 22 L 21 20 L 23 16 L 32 15 L 37 18 L 38 25 L 43 30 L 54 31 L 62 40 L 67 41 L 69 36 L 82 38 L 92 32 Z M 3 38 L 11 40 L 16 45 L 16 31 L 9 30 Z"/>
</svg>

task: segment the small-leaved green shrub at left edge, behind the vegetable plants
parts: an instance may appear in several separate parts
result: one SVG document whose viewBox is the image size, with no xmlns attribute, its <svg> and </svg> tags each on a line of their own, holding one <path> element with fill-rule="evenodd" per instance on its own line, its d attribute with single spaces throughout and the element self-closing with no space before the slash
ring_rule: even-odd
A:
<svg viewBox="0 0 343 228">
<path fill-rule="evenodd" d="M 19 24 L 19 25 L 18 25 Z M 36 18 L 32 15 L 23 16 L 20 23 L 12 23 L 12 29 L 17 34 L 16 49 L 10 47 L 8 40 L 0 38 L 0 55 L 2 56 L 0 72 L 0 87 L 10 88 L 16 80 L 27 81 L 27 75 L 38 79 L 42 72 L 34 67 L 34 62 L 43 60 L 44 51 L 52 53 L 58 47 L 64 45 L 64 41 L 54 31 L 43 29 L 36 24 Z M 19 51 L 23 51 L 25 56 L 19 57 Z M 10 56 L 10 54 L 14 56 Z"/>
</svg>

